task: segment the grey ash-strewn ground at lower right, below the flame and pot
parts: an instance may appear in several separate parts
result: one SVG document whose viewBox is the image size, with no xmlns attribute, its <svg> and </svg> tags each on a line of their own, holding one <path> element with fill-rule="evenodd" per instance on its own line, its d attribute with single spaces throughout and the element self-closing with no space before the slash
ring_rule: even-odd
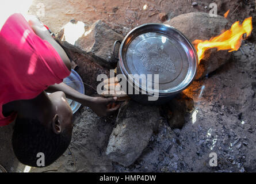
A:
<svg viewBox="0 0 256 184">
<path fill-rule="evenodd" d="M 147 148 L 129 167 L 116 172 L 255 172 L 256 44 L 244 41 L 231 60 L 185 94 L 194 109 L 185 125 L 171 129 L 163 118 Z M 217 154 L 217 167 L 209 154 Z"/>
</svg>

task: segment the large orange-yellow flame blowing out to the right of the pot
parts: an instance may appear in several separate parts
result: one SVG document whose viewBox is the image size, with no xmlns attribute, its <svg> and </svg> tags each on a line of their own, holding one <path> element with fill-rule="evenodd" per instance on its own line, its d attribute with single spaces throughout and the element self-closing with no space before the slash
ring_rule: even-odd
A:
<svg viewBox="0 0 256 184">
<path fill-rule="evenodd" d="M 253 30 L 251 17 L 246 18 L 242 24 L 236 21 L 230 29 L 224 30 L 219 36 L 212 37 L 209 40 L 194 40 L 193 44 L 196 48 L 199 62 L 204 58 L 204 52 L 211 48 L 220 50 L 228 50 L 228 52 L 237 51 L 242 44 L 243 34 L 246 38 L 250 36 Z"/>
</svg>

